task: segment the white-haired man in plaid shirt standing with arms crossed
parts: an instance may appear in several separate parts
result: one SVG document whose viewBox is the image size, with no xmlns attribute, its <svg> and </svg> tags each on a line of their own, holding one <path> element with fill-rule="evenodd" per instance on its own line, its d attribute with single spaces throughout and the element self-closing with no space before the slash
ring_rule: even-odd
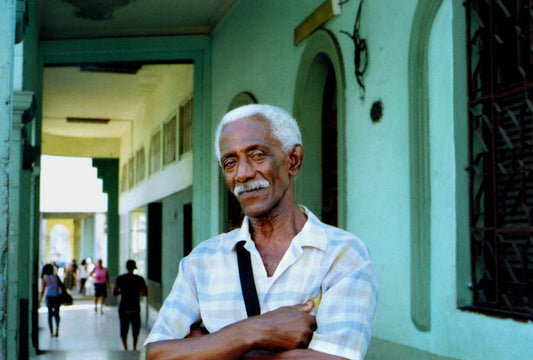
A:
<svg viewBox="0 0 533 360">
<path fill-rule="evenodd" d="M 215 150 L 246 217 L 181 261 L 147 359 L 362 359 L 377 303 L 374 270 L 361 240 L 296 204 L 304 158 L 296 121 L 274 106 L 240 107 L 222 118 Z M 250 317 L 242 243 L 260 307 Z"/>
</svg>

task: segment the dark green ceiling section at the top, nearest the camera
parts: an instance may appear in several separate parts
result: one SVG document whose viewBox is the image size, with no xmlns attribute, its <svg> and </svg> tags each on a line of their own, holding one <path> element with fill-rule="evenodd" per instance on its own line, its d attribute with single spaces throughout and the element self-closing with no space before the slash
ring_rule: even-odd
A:
<svg viewBox="0 0 533 360">
<path fill-rule="evenodd" d="M 210 34 L 238 0 L 38 1 L 41 40 Z"/>
</svg>

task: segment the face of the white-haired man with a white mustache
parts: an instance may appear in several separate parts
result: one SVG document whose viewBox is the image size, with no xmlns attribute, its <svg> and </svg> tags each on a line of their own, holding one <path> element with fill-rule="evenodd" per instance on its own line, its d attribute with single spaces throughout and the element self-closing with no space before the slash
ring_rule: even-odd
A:
<svg viewBox="0 0 533 360">
<path fill-rule="evenodd" d="M 268 215 L 287 190 L 292 192 L 289 156 L 272 137 L 266 120 L 253 116 L 227 124 L 219 145 L 224 180 L 245 215 Z"/>
</svg>

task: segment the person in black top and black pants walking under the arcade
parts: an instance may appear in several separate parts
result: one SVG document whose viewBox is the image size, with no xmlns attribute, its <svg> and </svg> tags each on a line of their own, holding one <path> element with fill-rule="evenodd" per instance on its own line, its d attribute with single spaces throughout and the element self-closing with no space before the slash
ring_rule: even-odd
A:
<svg viewBox="0 0 533 360">
<path fill-rule="evenodd" d="M 128 260 L 126 269 L 128 273 L 117 278 L 113 288 L 113 295 L 121 295 L 118 316 L 120 318 L 120 338 L 122 339 L 124 350 L 128 350 L 127 337 L 130 324 L 133 335 L 133 350 L 137 350 L 137 339 L 141 329 L 141 307 L 139 306 L 139 301 L 141 296 L 148 295 L 148 289 L 144 279 L 133 273 L 137 269 L 135 260 Z"/>
</svg>

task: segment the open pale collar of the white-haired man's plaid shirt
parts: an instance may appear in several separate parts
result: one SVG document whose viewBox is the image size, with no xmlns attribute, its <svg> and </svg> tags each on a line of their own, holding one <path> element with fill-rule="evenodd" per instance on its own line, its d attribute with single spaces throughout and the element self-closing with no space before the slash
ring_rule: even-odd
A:
<svg viewBox="0 0 533 360">
<path fill-rule="evenodd" d="M 307 221 L 305 222 L 302 230 L 292 239 L 293 245 L 299 247 L 311 246 L 325 251 L 327 247 L 327 237 L 324 224 L 309 210 L 303 205 L 300 205 L 300 209 L 307 216 Z M 248 217 L 245 216 L 242 222 L 240 229 L 236 230 L 237 234 L 233 238 L 232 248 L 239 241 L 246 241 L 245 248 L 251 250 L 251 247 L 255 247 L 252 243 L 252 237 L 250 235 L 250 222 Z"/>
</svg>

